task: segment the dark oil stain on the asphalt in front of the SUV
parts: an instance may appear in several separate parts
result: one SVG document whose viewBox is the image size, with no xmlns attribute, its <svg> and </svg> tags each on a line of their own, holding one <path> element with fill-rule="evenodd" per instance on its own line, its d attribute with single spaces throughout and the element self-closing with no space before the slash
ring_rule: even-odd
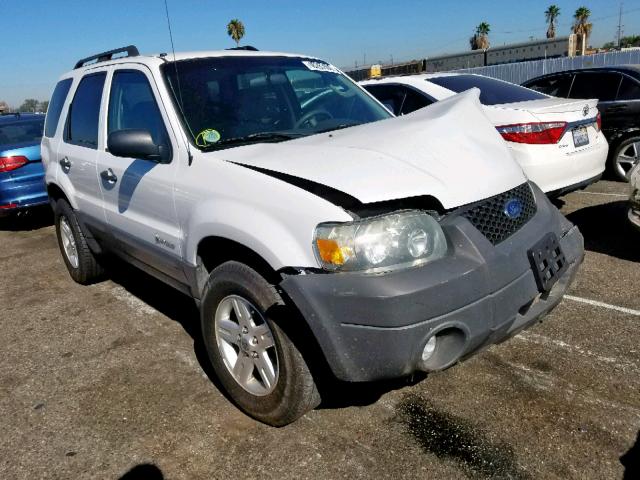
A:
<svg viewBox="0 0 640 480">
<path fill-rule="evenodd" d="M 492 442 L 468 420 L 439 410 L 419 395 L 406 396 L 396 412 L 396 420 L 425 452 L 453 460 L 471 477 L 530 478 L 509 445 Z"/>
</svg>

